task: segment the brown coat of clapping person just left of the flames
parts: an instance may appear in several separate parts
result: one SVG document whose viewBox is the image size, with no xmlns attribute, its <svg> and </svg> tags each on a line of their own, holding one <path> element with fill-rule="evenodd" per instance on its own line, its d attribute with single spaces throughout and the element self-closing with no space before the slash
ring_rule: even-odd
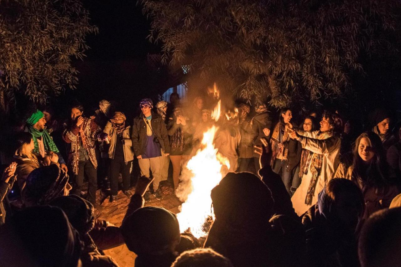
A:
<svg viewBox="0 0 401 267">
<path fill-rule="evenodd" d="M 175 141 L 174 140 L 174 134 L 178 129 L 181 128 L 181 134 L 182 134 L 182 139 L 183 139 L 183 148 L 180 150 L 180 148 L 173 148 L 172 144 Z M 192 150 L 192 138 L 194 134 L 194 127 L 192 124 L 190 124 L 189 121 L 186 121 L 185 125 L 182 124 L 177 124 L 176 123 L 176 118 L 174 117 L 173 119 L 170 119 L 168 121 L 167 125 L 167 134 L 170 139 L 170 155 L 171 156 L 180 156 L 180 155 L 189 155 Z"/>
</svg>

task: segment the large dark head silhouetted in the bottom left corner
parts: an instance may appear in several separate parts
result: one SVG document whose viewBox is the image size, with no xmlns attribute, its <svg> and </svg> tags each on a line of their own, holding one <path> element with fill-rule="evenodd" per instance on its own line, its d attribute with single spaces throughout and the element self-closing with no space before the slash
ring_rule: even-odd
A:
<svg viewBox="0 0 401 267">
<path fill-rule="evenodd" d="M 60 208 L 25 208 L 13 214 L 0 232 L 2 266 L 76 267 L 80 263 L 79 234 Z"/>
</svg>

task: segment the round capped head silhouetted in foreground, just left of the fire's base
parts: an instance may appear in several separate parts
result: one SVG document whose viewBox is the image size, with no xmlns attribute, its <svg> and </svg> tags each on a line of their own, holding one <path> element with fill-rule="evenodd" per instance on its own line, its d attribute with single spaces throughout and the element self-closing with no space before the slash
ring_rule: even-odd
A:
<svg viewBox="0 0 401 267">
<path fill-rule="evenodd" d="M 172 253 L 180 241 L 178 220 L 164 208 L 140 208 L 120 229 L 128 249 L 138 256 Z"/>
</svg>

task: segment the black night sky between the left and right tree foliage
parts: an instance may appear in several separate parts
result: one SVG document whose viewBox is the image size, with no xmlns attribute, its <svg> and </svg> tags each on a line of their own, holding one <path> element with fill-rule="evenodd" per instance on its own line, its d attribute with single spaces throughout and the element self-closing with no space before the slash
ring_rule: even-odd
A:
<svg viewBox="0 0 401 267">
<path fill-rule="evenodd" d="M 96 106 L 101 99 L 118 101 L 122 109 L 132 109 L 138 99 L 152 91 L 142 66 L 146 55 L 160 53 L 148 41 L 150 20 L 135 0 L 84 0 L 91 24 L 98 34 L 87 36 L 91 49 L 83 61 L 75 60 L 79 71 L 77 90 L 67 90 L 66 101 L 77 99 L 85 106 Z"/>
</svg>

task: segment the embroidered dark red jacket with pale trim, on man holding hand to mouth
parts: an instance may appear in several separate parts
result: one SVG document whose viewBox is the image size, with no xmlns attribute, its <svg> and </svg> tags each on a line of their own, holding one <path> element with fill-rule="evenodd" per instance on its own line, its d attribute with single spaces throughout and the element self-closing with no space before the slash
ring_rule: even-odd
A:
<svg viewBox="0 0 401 267">
<path fill-rule="evenodd" d="M 68 149 L 68 162 L 73 168 L 74 174 L 78 174 L 79 150 L 81 144 L 83 144 L 83 147 L 87 151 L 93 167 L 97 168 L 95 142 L 102 141 L 99 138 L 102 132 L 100 127 L 92 119 L 87 117 L 84 117 L 81 127 L 77 127 L 75 123 L 69 125 L 65 122 L 63 124 L 63 140 L 71 144 Z"/>
</svg>

